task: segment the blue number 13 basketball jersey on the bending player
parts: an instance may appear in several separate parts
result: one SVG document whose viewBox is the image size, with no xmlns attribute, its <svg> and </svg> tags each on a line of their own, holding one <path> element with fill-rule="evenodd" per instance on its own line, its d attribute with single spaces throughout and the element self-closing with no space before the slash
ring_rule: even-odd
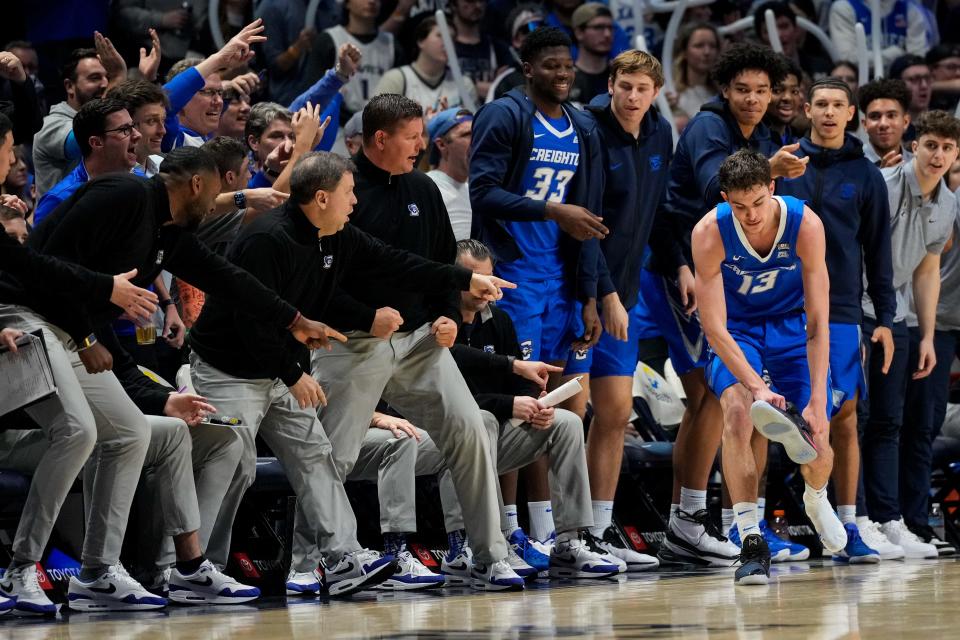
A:
<svg viewBox="0 0 960 640">
<path fill-rule="evenodd" d="M 774 199 L 780 204 L 780 227 L 767 256 L 750 246 L 730 205 L 717 206 L 728 320 L 767 320 L 803 309 L 803 273 L 797 256 L 803 201 L 790 196 Z"/>
</svg>

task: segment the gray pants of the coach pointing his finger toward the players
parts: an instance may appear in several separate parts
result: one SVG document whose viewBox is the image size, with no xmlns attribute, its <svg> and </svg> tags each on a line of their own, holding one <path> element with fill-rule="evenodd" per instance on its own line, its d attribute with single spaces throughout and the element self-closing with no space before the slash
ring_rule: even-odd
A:
<svg viewBox="0 0 960 640">
<path fill-rule="evenodd" d="M 196 353 L 190 356 L 190 376 L 197 393 L 221 414 L 243 421 L 243 426 L 235 427 L 243 441 L 243 454 L 210 534 L 206 552 L 210 561 L 220 566 L 227 564 L 237 509 L 257 475 L 257 433 L 283 465 L 297 495 L 298 513 L 312 532 L 313 545 L 324 550 L 328 563 L 336 563 L 343 554 L 359 550 L 357 521 L 316 411 L 301 409 L 280 380 L 235 378 L 204 362 Z M 316 563 L 310 566 L 297 560 L 294 558 L 292 565 L 297 571 L 316 568 Z"/>
</svg>

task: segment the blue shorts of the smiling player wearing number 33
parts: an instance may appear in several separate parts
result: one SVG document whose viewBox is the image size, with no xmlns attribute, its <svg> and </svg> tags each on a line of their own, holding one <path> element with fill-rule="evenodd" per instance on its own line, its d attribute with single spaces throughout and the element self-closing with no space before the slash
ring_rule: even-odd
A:
<svg viewBox="0 0 960 640">
<path fill-rule="evenodd" d="M 513 320 L 523 359 L 566 362 L 570 345 L 583 335 L 580 306 L 560 279 L 516 284 L 503 290 L 497 306 Z"/>
</svg>

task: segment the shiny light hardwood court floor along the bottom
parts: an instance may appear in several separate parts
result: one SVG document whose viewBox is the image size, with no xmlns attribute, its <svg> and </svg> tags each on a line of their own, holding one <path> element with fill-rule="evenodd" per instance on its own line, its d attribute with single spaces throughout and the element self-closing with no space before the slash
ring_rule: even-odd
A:
<svg viewBox="0 0 960 640">
<path fill-rule="evenodd" d="M 619 582 L 544 582 L 514 594 L 447 589 L 47 622 L 6 616 L 0 639 L 960 637 L 960 561 L 817 561 L 774 572 L 766 587 L 735 588 L 732 570 L 664 571 Z"/>
</svg>

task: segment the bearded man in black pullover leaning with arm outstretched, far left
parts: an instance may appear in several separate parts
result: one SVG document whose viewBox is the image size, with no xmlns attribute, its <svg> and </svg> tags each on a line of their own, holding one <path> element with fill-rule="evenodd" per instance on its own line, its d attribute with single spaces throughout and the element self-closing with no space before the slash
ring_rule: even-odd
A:
<svg viewBox="0 0 960 640">
<path fill-rule="evenodd" d="M 175 150 L 150 180 L 115 174 L 83 185 L 37 229 L 30 243 L 48 255 L 101 272 L 135 268 L 135 284 L 151 282 L 167 269 L 233 300 L 254 317 L 287 327 L 301 342 L 328 344 L 327 327 L 305 318 L 193 236 L 191 231 L 213 209 L 219 188 L 209 154 Z M 26 288 L 6 276 L 0 280 L 0 302 L 0 324 L 44 332 L 58 389 L 56 397 L 27 410 L 48 434 L 50 446 L 33 476 L 13 561 L 4 574 L 4 592 L 36 591 L 33 567 L 74 478 L 97 445 L 82 568 L 70 581 L 70 600 L 83 608 L 164 606 L 166 601 L 147 593 L 119 561 L 150 436 L 143 414 L 110 372 L 109 352 L 93 336 L 94 329 L 116 319 L 120 309 L 94 300 L 84 306 L 70 304 L 43 287 Z M 49 600 L 38 607 L 42 613 L 55 612 Z"/>
</svg>

